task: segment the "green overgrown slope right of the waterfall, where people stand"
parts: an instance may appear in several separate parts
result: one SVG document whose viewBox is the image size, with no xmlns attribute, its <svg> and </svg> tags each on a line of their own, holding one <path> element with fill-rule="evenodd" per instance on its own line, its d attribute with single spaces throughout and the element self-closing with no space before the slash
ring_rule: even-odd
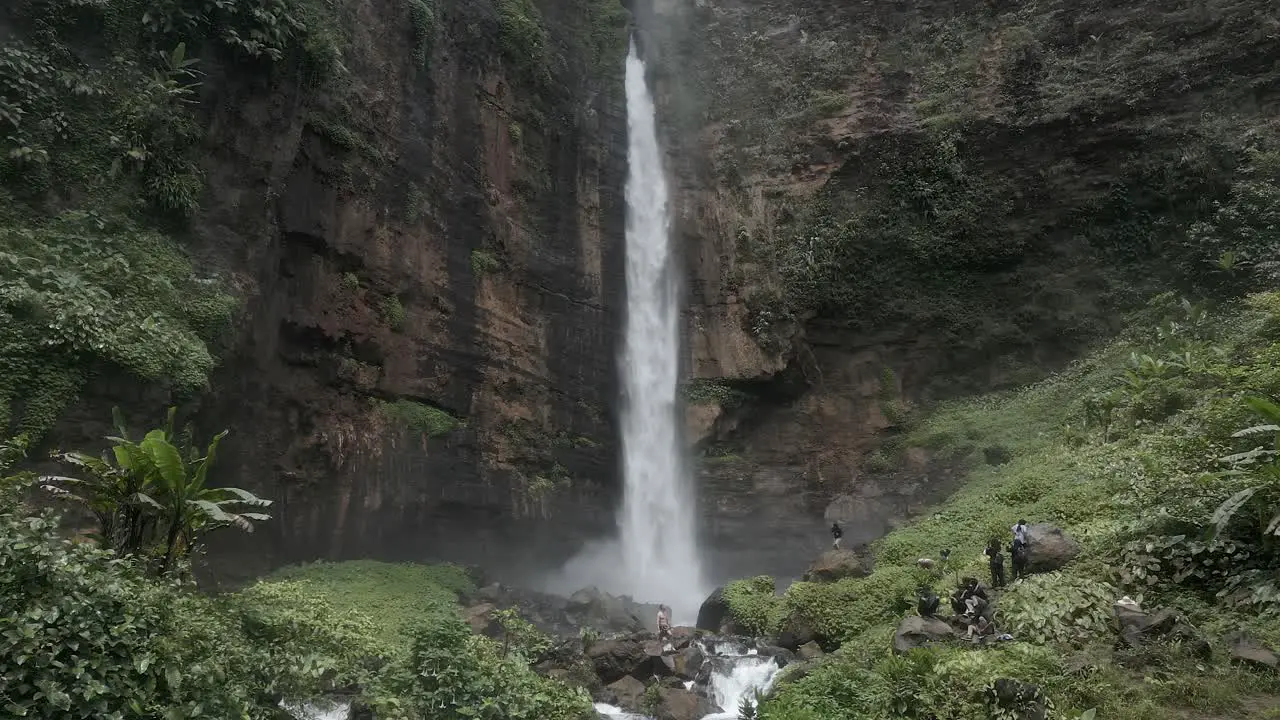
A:
<svg viewBox="0 0 1280 720">
<path fill-rule="evenodd" d="M 728 588 L 753 630 L 808 624 L 838 646 L 783 683 L 760 716 L 988 717 L 984 689 L 1012 678 L 1041 685 L 1060 717 L 1275 717 L 1280 676 L 1233 665 L 1217 641 L 1244 629 L 1280 646 L 1280 537 L 1267 527 L 1280 512 L 1280 473 L 1274 455 L 1238 455 L 1275 447 L 1277 428 L 1233 437 L 1277 424 L 1256 400 L 1280 396 L 1277 341 L 1280 293 L 1212 313 L 1162 296 L 1066 372 L 943 406 L 892 438 L 890 452 L 966 461 L 968 482 L 879 541 L 868 578 L 797 583 L 781 597 L 767 578 Z M 1244 502 L 1226 514 L 1229 498 Z M 942 594 L 959 574 L 986 577 L 982 547 L 1019 518 L 1061 525 L 1082 553 L 1001 598 L 997 625 L 1016 642 L 891 656 L 914 589 L 931 583 Z M 915 568 L 945 547 L 945 575 Z M 1119 650 L 1111 603 L 1126 593 L 1183 614 L 1213 656 L 1176 642 Z"/>
</svg>

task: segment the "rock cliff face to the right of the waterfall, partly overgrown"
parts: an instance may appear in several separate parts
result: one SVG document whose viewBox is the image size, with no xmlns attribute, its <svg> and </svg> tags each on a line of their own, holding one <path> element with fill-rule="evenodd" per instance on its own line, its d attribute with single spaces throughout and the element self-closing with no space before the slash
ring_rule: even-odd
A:
<svg viewBox="0 0 1280 720">
<path fill-rule="evenodd" d="M 735 391 L 690 411 L 726 575 L 794 571 L 824 511 L 856 542 L 945 492 L 928 456 L 876 452 L 911 406 L 1034 379 L 1188 287 L 1183 268 L 1216 260 L 1188 228 L 1248 138 L 1275 136 L 1280 18 L 1261 0 L 641 15 L 690 375 Z"/>
</svg>

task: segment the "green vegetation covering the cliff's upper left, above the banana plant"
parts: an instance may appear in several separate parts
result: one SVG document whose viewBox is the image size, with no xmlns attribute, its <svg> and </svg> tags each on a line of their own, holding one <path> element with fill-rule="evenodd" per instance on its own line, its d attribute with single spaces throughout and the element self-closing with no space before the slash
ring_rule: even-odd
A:
<svg viewBox="0 0 1280 720">
<path fill-rule="evenodd" d="M 93 374 L 189 393 L 236 307 L 179 242 L 204 199 L 202 63 L 340 70 L 329 0 L 20 1 L 0 44 L 0 433 Z M 197 58 L 201 60 L 197 61 Z"/>
</svg>

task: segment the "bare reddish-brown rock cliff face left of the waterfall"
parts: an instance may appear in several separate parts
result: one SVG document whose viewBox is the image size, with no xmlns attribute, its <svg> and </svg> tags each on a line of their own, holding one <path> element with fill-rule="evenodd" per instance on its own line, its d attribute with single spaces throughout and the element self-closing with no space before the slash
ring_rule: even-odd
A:
<svg viewBox="0 0 1280 720">
<path fill-rule="evenodd" d="M 244 311 L 196 418 L 232 428 L 219 479 L 276 501 L 214 564 L 567 555 L 612 519 L 626 14 L 343 6 L 337 86 L 202 86 L 195 249 Z"/>
</svg>

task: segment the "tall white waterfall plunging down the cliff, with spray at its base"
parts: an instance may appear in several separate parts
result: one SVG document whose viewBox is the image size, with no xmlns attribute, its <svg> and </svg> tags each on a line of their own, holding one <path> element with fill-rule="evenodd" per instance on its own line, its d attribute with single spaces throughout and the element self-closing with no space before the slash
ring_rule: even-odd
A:
<svg viewBox="0 0 1280 720">
<path fill-rule="evenodd" d="M 709 588 L 698 553 L 695 497 L 677 401 L 680 277 L 657 113 L 635 42 L 627 54 L 626 92 L 627 315 L 620 361 L 625 492 L 618 537 L 584 548 L 545 587 L 566 593 L 595 585 L 669 605 L 677 624 L 692 624 Z"/>
</svg>

